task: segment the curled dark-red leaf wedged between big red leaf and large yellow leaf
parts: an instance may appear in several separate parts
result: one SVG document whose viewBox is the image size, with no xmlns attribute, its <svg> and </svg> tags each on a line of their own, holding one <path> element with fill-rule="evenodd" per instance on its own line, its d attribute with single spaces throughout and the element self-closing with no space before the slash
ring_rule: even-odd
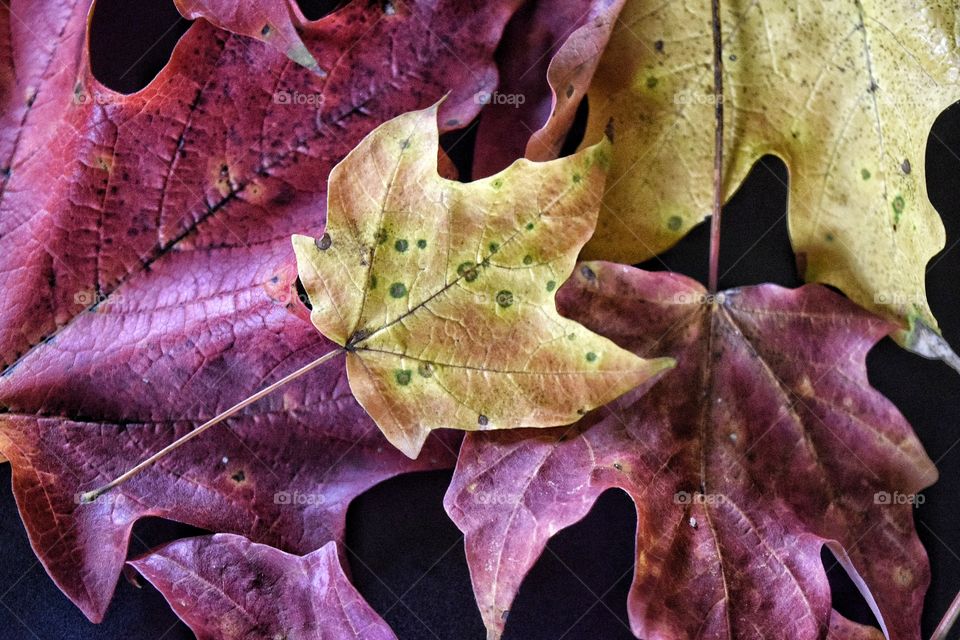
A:
<svg viewBox="0 0 960 640">
<path fill-rule="evenodd" d="M 517 12 L 497 52 L 500 86 L 479 96 L 488 106 L 477 127 L 475 177 L 520 157 L 560 155 L 624 1 L 536 0 Z"/>
</svg>

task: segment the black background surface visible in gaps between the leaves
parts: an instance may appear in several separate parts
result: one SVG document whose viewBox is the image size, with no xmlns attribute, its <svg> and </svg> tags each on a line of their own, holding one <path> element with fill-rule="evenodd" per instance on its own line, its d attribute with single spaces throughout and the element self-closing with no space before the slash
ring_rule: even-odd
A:
<svg viewBox="0 0 960 640">
<path fill-rule="evenodd" d="M 134 91 L 156 73 L 187 23 L 169 0 L 100 0 L 94 20 L 93 63 L 99 78 Z M 336 3 L 303 0 L 313 16 Z M 323 5 L 323 6 L 321 6 Z M 102 13 L 101 13 L 102 12 Z M 163 35 L 166 34 L 166 35 Z M 159 44 L 151 46 L 160 40 Z M 712 136 L 710 137 L 712 139 Z M 445 146 L 461 171 L 469 170 L 472 132 L 450 134 Z M 960 345 L 960 108 L 940 117 L 930 136 L 926 171 L 930 198 L 944 218 L 948 249 L 928 269 L 928 292 L 944 334 Z M 787 172 L 776 159 L 754 168 L 724 208 L 721 287 L 761 282 L 798 284 L 787 236 Z M 644 265 L 706 279 L 707 229 L 695 229 L 680 245 Z M 904 352 L 889 340 L 868 360 L 870 378 L 914 425 L 941 479 L 925 492 L 917 528 L 930 555 L 933 584 L 924 611 L 928 637 L 960 589 L 960 375 L 946 366 Z M 955 446 L 957 445 L 957 446 Z M 0 637 L 11 639 L 192 638 L 166 602 L 149 586 L 137 590 L 121 579 L 101 625 L 92 625 L 57 590 L 34 558 L 9 486 L 0 473 Z M 470 592 L 462 540 L 443 512 L 449 473 L 399 477 L 354 501 L 347 540 L 354 583 L 401 640 L 484 637 Z M 510 613 L 508 640 L 617 640 L 632 638 L 626 596 L 633 570 L 636 517 L 625 494 L 609 491 L 579 524 L 561 531 L 524 582 Z M 135 529 L 132 554 L 193 529 L 157 520 Z M 829 557 L 836 606 L 869 621 L 856 591 Z M 960 638 L 960 631 L 953 634 Z"/>
</svg>

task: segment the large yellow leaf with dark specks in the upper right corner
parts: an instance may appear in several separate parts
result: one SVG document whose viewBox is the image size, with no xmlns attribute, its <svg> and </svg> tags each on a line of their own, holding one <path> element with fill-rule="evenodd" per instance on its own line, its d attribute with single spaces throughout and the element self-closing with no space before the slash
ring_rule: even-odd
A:
<svg viewBox="0 0 960 640">
<path fill-rule="evenodd" d="M 790 237 L 807 280 L 842 289 L 936 347 L 924 268 L 944 244 L 924 150 L 960 98 L 960 13 L 946 0 L 725 0 L 725 192 L 770 153 L 790 170 Z M 709 0 L 631 0 L 589 91 L 586 140 L 613 121 L 591 258 L 639 262 L 711 209 Z M 942 354 L 934 354 L 942 355 Z"/>
</svg>

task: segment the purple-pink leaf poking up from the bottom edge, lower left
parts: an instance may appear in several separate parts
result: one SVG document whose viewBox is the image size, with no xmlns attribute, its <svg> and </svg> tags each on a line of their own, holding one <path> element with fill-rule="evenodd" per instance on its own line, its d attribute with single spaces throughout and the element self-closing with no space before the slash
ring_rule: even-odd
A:
<svg viewBox="0 0 960 640">
<path fill-rule="evenodd" d="M 199 640 L 396 640 L 347 580 L 334 542 L 299 557 L 218 534 L 168 544 L 130 564 Z"/>
</svg>

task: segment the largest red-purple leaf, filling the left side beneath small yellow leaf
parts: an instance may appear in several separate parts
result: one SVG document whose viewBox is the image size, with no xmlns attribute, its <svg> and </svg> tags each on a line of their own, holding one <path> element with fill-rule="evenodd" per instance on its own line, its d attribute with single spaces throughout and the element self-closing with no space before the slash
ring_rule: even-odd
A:
<svg viewBox="0 0 960 640">
<path fill-rule="evenodd" d="M 325 78 L 197 21 L 132 95 L 90 73 L 90 2 L 0 5 L 0 451 L 34 550 L 90 619 L 137 518 L 305 553 L 366 488 L 452 463 L 441 441 L 392 451 L 337 361 L 76 500 L 331 348 L 294 304 L 290 235 L 322 228 L 330 169 L 382 120 L 447 92 L 444 128 L 476 116 L 516 5 L 352 3 L 303 28 Z M 322 504 L 275 502 L 294 491 Z"/>
</svg>

